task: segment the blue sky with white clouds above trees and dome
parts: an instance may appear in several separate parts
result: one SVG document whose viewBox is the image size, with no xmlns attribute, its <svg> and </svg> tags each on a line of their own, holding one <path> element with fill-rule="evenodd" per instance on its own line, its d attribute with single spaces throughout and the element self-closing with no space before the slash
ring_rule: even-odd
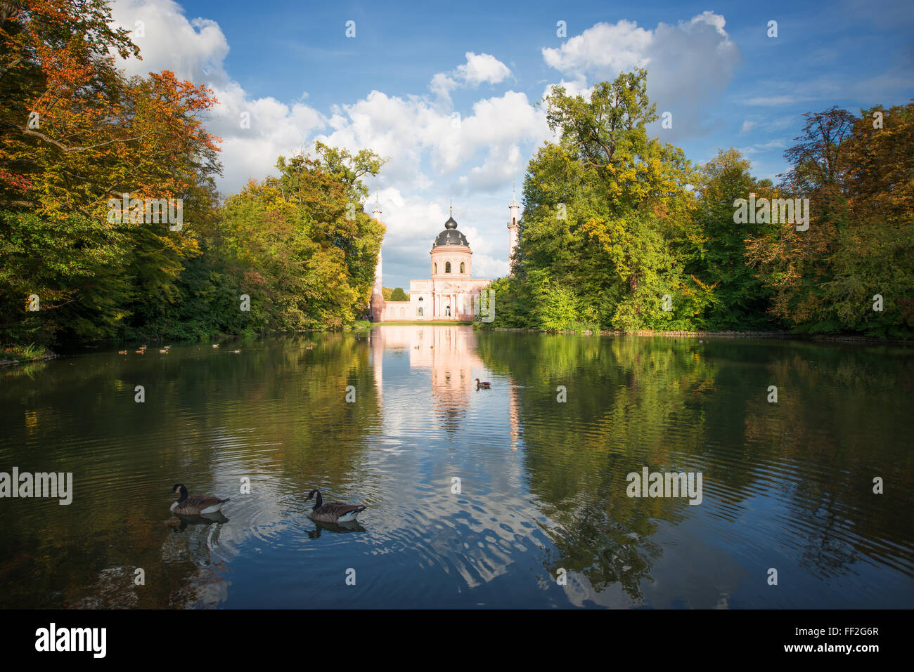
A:
<svg viewBox="0 0 914 672">
<path fill-rule="evenodd" d="M 737 147 L 774 179 L 803 112 L 914 98 L 910 2 L 112 6 L 123 26 L 143 21 L 143 62 L 122 63 L 128 72 L 168 68 L 215 89 L 224 193 L 315 139 L 388 157 L 371 186 L 388 225 L 384 284 L 404 289 L 428 278 L 451 196 L 474 277 L 505 274 L 511 183 L 550 137 L 536 103 L 552 84 L 586 91 L 643 65 L 658 112 L 673 114 L 656 135 L 696 163 Z"/>
</svg>

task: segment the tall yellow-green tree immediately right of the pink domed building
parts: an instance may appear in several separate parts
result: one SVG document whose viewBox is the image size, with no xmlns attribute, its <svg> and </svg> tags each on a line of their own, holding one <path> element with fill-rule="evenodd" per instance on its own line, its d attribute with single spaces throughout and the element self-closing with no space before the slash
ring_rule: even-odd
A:
<svg viewBox="0 0 914 672">
<path fill-rule="evenodd" d="M 604 328 L 684 328 L 710 300 L 685 274 L 703 245 L 690 217 L 694 176 L 682 150 L 647 135 L 657 116 L 646 77 L 623 73 L 590 98 L 553 87 L 545 103 L 559 142 L 537 151 L 524 184 L 519 282 L 546 271 L 539 278 L 561 289 L 561 305 Z"/>
</svg>

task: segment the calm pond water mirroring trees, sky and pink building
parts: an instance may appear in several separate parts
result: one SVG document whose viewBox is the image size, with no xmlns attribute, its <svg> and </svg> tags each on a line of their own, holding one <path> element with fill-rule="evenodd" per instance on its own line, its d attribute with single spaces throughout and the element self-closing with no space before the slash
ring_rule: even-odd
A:
<svg viewBox="0 0 914 672">
<path fill-rule="evenodd" d="M 135 349 L 0 372 L 0 471 L 74 483 L 0 499 L 0 606 L 914 598 L 911 348 L 387 326 Z M 701 504 L 629 498 L 643 467 L 701 471 Z M 228 521 L 173 517 L 176 482 Z M 311 488 L 366 504 L 358 529 L 309 520 Z"/>
</svg>

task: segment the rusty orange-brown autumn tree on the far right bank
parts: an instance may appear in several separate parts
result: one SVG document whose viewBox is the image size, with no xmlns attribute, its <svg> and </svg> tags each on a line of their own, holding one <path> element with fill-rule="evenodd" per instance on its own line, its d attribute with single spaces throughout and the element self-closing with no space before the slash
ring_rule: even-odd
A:
<svg viewBox="0 0 914 672">
<path fill-rule="evenodd" d="M 749 260 L 796 331 L 914 335 L 914 103 L 804 115 L 781 189 L 809 229 L 751 239 Z M 878 310 L 880 309 L 881 310 Z"/>
</svg>

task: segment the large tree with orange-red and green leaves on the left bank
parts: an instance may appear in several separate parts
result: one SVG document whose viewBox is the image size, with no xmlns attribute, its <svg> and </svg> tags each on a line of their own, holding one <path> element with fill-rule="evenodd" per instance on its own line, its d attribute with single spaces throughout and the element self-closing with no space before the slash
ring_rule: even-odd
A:
<svg viewBox="0 0 914 672">
<path fill-rule="evenodd" d="M 198 114 L 215 100 L 168 71 L 126 79 L 112 54 L 139 51 L 102 0 L 5 3 L 0 18 L 0 334 L 112 336 L 174 301 L 199 253 L 219 165 Z M 121 194 L 182 199 L 186 226 L 112 224 Z"/>
</svg>

